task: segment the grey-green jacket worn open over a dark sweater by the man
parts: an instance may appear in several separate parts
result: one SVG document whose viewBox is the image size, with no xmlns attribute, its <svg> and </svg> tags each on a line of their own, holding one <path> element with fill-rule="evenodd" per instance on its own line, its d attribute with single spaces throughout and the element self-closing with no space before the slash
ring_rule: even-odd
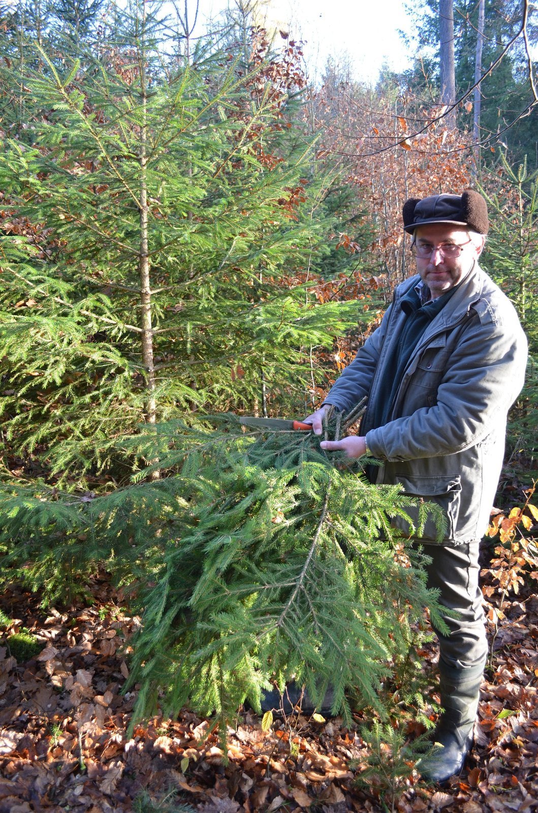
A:
<svg viewBox="0 0 538 813">
<path fill-rule="evenodd" d="M 523 386 L 527 339 L 509 299 L 475 263 L 414 348 L 388 422 L 372 426 L 381 382 L 395 372 L 387 359 L 406 320 L 399 302 L 418 282 L 414 276 L 398 285 L 380 327 L 325 403 L 348 410 L 368 397 L 361 434 L 383 461 L 376 481 L 401 484 L 405 493 L 436 502 L 447 520 L 443 544 L 458 544 L 482 537 L 488 527 L 506 415 Z M 416 523 L 418 509 L 410 516 Z M 409 533 L 403 520 L 396 524 Z M 430 518 L 420 540 L 436 536 Z"/>
</svg>

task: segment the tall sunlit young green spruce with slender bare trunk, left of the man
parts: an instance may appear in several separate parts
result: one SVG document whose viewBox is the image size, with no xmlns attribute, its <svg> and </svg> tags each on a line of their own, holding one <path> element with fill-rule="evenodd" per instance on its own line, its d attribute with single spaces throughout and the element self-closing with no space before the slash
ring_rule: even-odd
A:
<svg viewBox="0 0 538 813">
<path fill-rule="evenodd" d="M 115 439 L 141 422 L 254 411 L 263 388 L 302 397 L 306 348 L 330 347 L 354 310 L 281 284 L 327 228 L 309 145 L 284 141 L 285 94 L 202 46 L 163 66 L 147 5 L 116 10 L 92 62 L 28 45 L 42 69 L 24 77 L 25 142 L 6 133 L 0 169 L 18 236 L 0 280 L 8 433 L 83 489 L 130 476 Z M 3 78 L 20 87 L 15 68 Z"/>
</svg>

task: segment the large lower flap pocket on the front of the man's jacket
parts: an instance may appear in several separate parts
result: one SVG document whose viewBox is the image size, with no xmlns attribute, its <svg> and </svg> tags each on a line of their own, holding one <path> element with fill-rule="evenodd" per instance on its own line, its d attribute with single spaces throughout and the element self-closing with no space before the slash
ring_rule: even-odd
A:
<svg viewBox="0 0 538 813">
<path fill-rule="evenodd" d="M 396 517 L 393 524 L 401 530 L 406 537 L 413 535 L 417 541 L 431 544 L 437 542 L 441 545 L 456 541 L 458 528 L 458 514 L 462 484 L 460 476 L 454 477 L 427 477 L 414 475 L 394 476 L 395 483 L 401 485 L 406 496 L 414 498 L 417 505 L 406 508 L 415 532 L 412 534 L 410 524 L 402 517 Z M 438 506 L 440 511 L 427 510 L 424 503 Z M 421 510 L 422 509 L 422 510 Z M 425 515 L 425 517 L 424 517 Z M 439 527 L 439 517 L 445 528 Z M 422 530 L 419 533 L 419 527 Z"/>
</svg>

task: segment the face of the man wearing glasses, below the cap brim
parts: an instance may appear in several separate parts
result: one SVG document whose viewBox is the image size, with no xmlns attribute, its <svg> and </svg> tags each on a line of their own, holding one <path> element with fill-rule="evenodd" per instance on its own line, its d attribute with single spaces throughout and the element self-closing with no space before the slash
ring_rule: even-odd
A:
<svg viewBox="0 0 538 813">
<path fill-rule="evenodd" d="M 420 226 L 414 232 L 416 246 L 432 249 L 429 257 L 416 257 L 417 271 L 421 280 L 432 293 L 432 299 L 446 293 L 471 271 L 471 267 L 484 247 L 484 240 L 480 245 L 479 238 L 469 240 L 469 233 L 461 226 L 451 226 L 448 223 L 430 223 Z M 447 244 L 462 246 L 459 257 L 445 257 L 442 246 Z M 439 247 L 441 246 L 441 251 Z M 434 250 L 435 249 L 435 250 Z"/>
</svg>

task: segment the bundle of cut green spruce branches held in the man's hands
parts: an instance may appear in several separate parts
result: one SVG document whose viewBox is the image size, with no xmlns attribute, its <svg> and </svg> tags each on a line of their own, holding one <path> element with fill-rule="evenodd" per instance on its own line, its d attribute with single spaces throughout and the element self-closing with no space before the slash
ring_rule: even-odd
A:
<svg viewBox="0 0 538 813">
<path fill-rule="evenodd" d="M 184 502 L 153 554 L 132 641 L 137 718 L 189 706 L 224 726 L 288 680 L 316 702 L 331 682 L 347 720 L 352 704 L 386 715 L 379 690 L 410 658 L 424 607 L 439 618 L 423 572 L 395 555 L 406 543 L 391 519 L 410 520 L 413 502 L 371 485 L 360 461 L 324 453 L 313 433 L 240 425 L 223 415 L 216 430 L 159 428 L 161 470 L 184 461 Z"/>
</svg>

